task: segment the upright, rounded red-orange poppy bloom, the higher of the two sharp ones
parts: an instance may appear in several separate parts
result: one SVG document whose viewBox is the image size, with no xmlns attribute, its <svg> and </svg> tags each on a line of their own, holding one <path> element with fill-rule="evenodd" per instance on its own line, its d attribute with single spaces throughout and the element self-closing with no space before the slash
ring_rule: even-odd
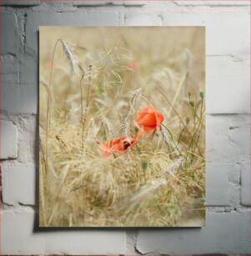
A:
<svg viewBox="0 0 251 256">
<path fill-rule="evenodd" d="M 148 105 L 137 111 L 137 122 L 143 133 L 150 133 L 163 122 L 163 115 Z"/>
</svg>

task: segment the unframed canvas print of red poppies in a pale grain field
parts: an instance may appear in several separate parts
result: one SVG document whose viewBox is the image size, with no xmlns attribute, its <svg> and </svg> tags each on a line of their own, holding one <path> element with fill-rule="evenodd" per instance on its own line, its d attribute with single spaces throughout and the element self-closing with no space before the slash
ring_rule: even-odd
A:
<svg viewBox="0 0 251 256">
<path fill-rule="evenodd" d="M 203 227 L 205 29 L 39 28 L 40 227 Z"/>
</svg>

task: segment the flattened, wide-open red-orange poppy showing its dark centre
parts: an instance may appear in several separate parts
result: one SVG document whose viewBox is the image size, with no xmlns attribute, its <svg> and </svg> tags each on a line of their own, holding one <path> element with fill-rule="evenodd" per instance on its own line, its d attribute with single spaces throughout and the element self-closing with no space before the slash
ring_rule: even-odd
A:
<svg viewBox="0 0 251 256">
<path fill-rule="evenodd" d="M 125 152 L 136 144 L 140 134 L 141 132 L 138 132 L 134 137 L 121 136 L 110 141 L 105 141 L 101 146 L 99 146 L 99 150 L 103 156 L 109 156 L 117 151 Z"/>
</svg>

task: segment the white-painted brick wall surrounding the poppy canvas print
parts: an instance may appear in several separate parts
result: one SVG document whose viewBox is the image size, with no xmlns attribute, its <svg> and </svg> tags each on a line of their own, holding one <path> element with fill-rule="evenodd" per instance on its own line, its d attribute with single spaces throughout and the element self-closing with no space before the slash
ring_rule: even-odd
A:
<svg viewBox="0 0 251 256">
<path fill-rule="evenodd" d="M 0 253 L 249 253 L 249 1 L 4 0 L 1 5 Z M 35 228 L 41 25 L 206 26 L 207 227 Z"/>
</svg>

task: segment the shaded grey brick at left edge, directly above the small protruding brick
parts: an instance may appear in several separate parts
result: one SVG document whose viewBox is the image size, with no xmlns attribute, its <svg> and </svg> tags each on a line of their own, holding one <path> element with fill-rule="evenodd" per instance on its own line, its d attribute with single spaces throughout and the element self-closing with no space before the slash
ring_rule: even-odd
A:
<svg viewBox="0 0 251 256">
<path fill-rule="evenodd" d="M 8 113 L 37 113 L 38 63 L 30 56 L 19 60 L 12 55 L 1 57 L 1 108 Z"/>
</svg>

